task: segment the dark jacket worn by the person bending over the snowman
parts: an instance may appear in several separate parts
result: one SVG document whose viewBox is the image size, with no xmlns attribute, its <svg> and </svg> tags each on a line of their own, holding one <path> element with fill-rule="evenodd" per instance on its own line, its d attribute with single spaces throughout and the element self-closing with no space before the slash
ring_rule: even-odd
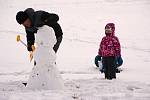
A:
<svg viewBox="0 0 150 100">
<path fill-rule="evenodd" d="M 56 39 L 63 35 L 60 25 L 57 23 L 59 16 L 53 13 L 48 13 L 45 11 L 34 11 L 32 8 L 26 9 L 24 12 L 27 13 L 29 19 L 31 20 L 31 27 L 26 29 L 27 45 L 28 51 L 32 51 L 31 45 L 35 42 L 34 33 L 37 33 L 38 27 L 43 25 L 48 25 L 54 29 Z"/>
</svg>

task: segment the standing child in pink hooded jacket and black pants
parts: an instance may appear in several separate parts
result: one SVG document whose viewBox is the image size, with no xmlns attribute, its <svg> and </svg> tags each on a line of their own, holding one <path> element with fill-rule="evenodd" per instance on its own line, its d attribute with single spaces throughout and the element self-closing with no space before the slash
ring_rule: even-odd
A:
<svg viewBox="0 0 150 100">
<path fill-rule="evenodd" d="M 105 79 L 116 78 L 116 57 L 121 56 L 120 42 L 115 36 L 115 24 L 105 26 L 105 35 L 100 43 L 98 54 L 102 56 Z"/>
</svg>

